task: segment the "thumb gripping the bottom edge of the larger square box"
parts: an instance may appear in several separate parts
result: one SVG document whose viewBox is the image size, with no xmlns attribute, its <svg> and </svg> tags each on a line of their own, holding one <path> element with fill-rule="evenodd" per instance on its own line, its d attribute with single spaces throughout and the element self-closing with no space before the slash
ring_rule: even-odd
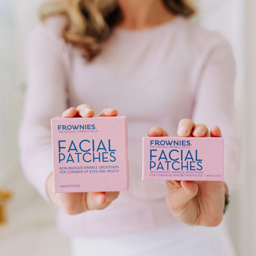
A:
<svg viewBox="0 0 256 256">
<path fill-rule="evenodd" d="M 88 210 L 102 210 L 118 196 L 119 192 L 89 192 L 87 193 Z"/>
</svg>

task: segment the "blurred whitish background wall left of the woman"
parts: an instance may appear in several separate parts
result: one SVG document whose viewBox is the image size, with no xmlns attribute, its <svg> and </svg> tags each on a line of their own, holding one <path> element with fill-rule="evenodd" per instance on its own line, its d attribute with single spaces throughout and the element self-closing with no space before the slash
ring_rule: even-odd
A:
<svg viewBox="0 0 256 256">
<path fill-rule="evenodd" d="M 17 131 L 25 87 L 24 47 L 37 21 L 38 0 L 0 0 L 0 189 L 13 192 L 0 226 L 1 256 L 68 256 L 55 209 L 27 183 L 18 161 Z"/>
</svg>

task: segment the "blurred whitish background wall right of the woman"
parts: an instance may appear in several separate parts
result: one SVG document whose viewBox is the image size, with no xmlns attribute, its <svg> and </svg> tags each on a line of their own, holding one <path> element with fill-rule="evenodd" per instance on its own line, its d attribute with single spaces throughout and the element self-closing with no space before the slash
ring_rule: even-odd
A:
<svg viewBox="0 0 256 256">
<path fill-rule="evenodd" d="M 198 4 L 201 25 L 227 37 L 237 60 L 241 167 L 226 220 L 238 255 L 256 255 L 256 1 L 198 0 Z"/>
</svg>

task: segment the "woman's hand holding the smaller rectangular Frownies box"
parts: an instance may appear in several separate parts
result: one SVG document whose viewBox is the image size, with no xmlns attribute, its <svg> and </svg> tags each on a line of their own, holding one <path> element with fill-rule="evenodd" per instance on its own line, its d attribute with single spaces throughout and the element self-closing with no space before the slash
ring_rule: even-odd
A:
<svg viewBox="0 0 256 256">
<path fill-rule="evenodd" d="M 148 136 L 168 136 L 161 127 L 152 127 Z M 210 132 L 203 124 L 182 119 L 179 137 L 222 137 L 220 128 Z M 224 183 L 218 181 L 166 181 L 168 196 L 165 202 L 174 217 L 187 225 L 218 226 L 223 218 Z"/>
</svg>

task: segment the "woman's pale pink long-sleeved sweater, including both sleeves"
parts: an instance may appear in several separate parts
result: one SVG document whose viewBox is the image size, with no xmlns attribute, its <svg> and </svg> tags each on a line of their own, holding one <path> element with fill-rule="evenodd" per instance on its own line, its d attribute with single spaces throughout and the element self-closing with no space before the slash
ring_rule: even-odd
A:
<svg viewBox="0 0 256 256">
<path fill-rule="evenodd" d="M 129 191 L 105 210 L 69 216 L 59 210 L 67 235 L 111 235 L 151 229 L 176 221 L 165 205 L 165 181 L 142 181 L 142 139 L 158 125 L 176 136 L 180 119 L 225 137 L 225 180 L 237 176 L 233 86 L 235 61 L 229 43 L 177 17 L 157 27 L 115 28 L 102 52 L 87 63 L 61 37 L 65 19 L 48 18 L 27 48 L 27 88 L 19 128 L 20 159 L 27 180 L 48 201 L 46 179 L 53 171 L 50 119 L 79 104 L 96 113 L 115 108 L 128 117 Z"/>
</svg>

